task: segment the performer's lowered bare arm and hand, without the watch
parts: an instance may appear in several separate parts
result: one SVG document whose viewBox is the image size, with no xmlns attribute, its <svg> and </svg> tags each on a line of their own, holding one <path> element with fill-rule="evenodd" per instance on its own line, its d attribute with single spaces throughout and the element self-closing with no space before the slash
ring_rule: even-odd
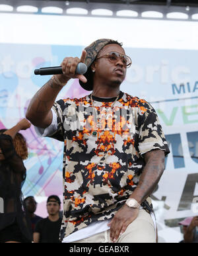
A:
<svg viewBox="0 0 198 256">
<path fill-rule="evenodd" d="M 164 151 L 154 149 L 145 153 L 144 157 L 146 165 L 141 174 L 139 184 L 132 193 L 133 198 L 137 200 L 139 204 L 144 202 L 144 200 L 152 194 L 152 191 L 156 187 L 164 171 Z M 138 214 L 138 208 L 129 208 L 127 205 L 120 208 L 112 221 L 108 224 L 108 226 L 111 227 L 111 240 L 115 242 L 119 235 L 125 232 L 127 226 L 137 218 Z"/>
</svg>

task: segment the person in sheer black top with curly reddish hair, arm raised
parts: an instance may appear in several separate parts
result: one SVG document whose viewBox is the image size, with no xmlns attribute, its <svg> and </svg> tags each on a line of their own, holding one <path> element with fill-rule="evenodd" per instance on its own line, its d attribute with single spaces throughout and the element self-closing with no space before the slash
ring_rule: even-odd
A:
<svg viewBox="0 0 198 256">
<path fill-rule="evenodd" d="M 26 179 L 23 160 L 28 157 L 28 147 L 26 139 L 19 133 L 30 126 L 30 122 L 23 118 L 13 128 L 0 130 L 0 197 L 3 199 L 1 243 L 32 242 L 32 230 L 22 204 L 21 192 Z"/>
</svg>

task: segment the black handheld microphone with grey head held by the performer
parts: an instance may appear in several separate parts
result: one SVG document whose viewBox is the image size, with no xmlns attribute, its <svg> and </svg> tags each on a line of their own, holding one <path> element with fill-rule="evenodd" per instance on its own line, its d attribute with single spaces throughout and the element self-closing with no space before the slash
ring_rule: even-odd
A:
<svg viewBox="0 0 198 256">
<path fill-rule="evenodd" d="M 86 64 L 80 62 L 77 65 L 76 74 L 79 75 L 84 75 L 84 73 L 86 73 L 87 70 L 87 66 Z M 58 67 L 41 67 L 40 69 L 35 69 L 34 70 L 34 74 L 35 75 L 57 75 L 57 74 L 62 74 L 63 70 L 61 66 Z"/>
</svg>

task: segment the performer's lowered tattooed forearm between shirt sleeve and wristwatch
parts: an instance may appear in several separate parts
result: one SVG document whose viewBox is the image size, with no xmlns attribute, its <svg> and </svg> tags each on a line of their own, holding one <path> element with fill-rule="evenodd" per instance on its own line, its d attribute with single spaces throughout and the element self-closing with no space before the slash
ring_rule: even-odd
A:
<svg viewBox="0 0 198 256">
<path fill-rule="evenodd" d="M 148 197 L 160 181 L 164 171 L 164 151 L 156 149 L 145 154 L 146 165 L 143 169 L 139 184 L 131 194 L 140 204 Z"/>
</svg>

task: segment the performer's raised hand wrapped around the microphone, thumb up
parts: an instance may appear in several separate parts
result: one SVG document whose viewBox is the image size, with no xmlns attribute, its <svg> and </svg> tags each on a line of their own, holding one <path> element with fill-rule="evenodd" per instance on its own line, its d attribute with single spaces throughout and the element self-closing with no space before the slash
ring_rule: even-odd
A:
<svg viewBox="0 0 198 256">
<path fill-rule="evenodd" d="M 69 81 L 71 78 L 79 78 L 82 83 L 86 83 L 86 77 L 84 75 L 76 74 L 76 68 L 79 62 L 84 63 L 84 60 L 86 58 L 86 51 L 82 51 L 81 58 L 73 58 L 73 57 L 67 57 L 63 60 L 61 63 L 62 69 L 63 69 L 63 75 L 57 75 L 57 78 L 60 81 Z"/>
</svg>

